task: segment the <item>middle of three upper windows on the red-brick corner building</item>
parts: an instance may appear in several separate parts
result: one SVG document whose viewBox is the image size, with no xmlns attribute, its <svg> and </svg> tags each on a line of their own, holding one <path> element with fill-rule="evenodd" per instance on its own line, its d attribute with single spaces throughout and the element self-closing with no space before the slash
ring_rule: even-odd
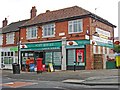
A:
<svg viewBox="0 0 120 90">
<path fill-rule="evenodd" d="M 55 24 L 43 25 L 43 37 L 54 37 L 55 36 Z"/>
</svg>

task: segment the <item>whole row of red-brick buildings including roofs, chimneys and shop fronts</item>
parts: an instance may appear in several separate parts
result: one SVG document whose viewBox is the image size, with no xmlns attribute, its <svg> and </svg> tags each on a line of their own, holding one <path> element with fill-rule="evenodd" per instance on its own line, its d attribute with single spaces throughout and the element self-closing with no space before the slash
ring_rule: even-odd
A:
<svg viewBox="0 0 120 90">
<path fill-rule="evenodd" d="M 106 54 L 113 53 L 115 25 L 78 6 L 46 10 L 37 15 L 36 7 L 30 19 L 0 29 L 0 63 L 12 69 L 12 63 L 22 65 L 29 57 L 36 64 L 53 63 L 55 69 L 103 69 Z M 1 66 L 2 67 L 2 66 Z"/>
</svg>

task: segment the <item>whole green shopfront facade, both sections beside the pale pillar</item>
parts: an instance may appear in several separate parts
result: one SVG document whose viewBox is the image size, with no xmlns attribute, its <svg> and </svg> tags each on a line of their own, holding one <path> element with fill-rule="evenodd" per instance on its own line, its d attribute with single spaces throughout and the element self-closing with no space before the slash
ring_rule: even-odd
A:
<svg viewBox="0 0 120 90">
<path fill-rule="evenodd" d="M 69 45 L 73 42 L 73 45 Z M 74 44 L 75 43 L 75 44 Z M 36 64 L 37 58 L 43 58 L 43 64 L 48 67 L 52 63 L 55 69 L 61 69 L 62 64 L 66 64 L 66 70 L 85 69 L 86 65 L 86 44 L 89 40 L 66 41 L 66 55 L 62 55 L 62 41 L 27 43 L 25 48 L 21 48 L 21 65 L 25 63 L 28 57 L 34 59 Z M 66 63 L 62 59 L 66 57 Z"/>
</svg>

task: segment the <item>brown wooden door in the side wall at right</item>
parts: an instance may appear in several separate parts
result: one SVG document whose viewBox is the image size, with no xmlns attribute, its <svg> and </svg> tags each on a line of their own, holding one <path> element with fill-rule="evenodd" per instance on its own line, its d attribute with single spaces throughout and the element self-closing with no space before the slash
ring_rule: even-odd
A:
<svg viewBox="0 0 120 90">
<path fill-rule="evenodd" d="M 94 54 L 94 69 L 103 69 L 103 55 Z"/>
</svg>

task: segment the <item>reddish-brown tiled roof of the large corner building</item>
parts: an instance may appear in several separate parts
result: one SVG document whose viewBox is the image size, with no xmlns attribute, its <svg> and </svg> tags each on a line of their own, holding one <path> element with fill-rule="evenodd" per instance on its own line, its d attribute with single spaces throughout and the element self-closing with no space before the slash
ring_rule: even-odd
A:
<svg viewBox="0 0 120 90">
<path fill-rule="evenodd" d="M 41 13 L 38 16 L 34 17 L 33 19 L 29 20 L 28 22 L 24 23 L 21 27 L 27 27 L 27 26 L 33 26 L 37 24 L 43 24 L 48 22 L 54 22 L 54 21 L 60 21 L 70 18 L 80 18 L 82 16 L 90 16 L 92 18 L 98 17 L 97 15 L 81 8 L 78 6 L 68 7 L 64 9 L 59 9 L 55 11 L 49 11 L 47 10 L 46 13 Z M 114 26 L 113 24 L 109 23 L 107 20 L 98 17 L 99 20 L 104 23 Z"/>
</svg>

